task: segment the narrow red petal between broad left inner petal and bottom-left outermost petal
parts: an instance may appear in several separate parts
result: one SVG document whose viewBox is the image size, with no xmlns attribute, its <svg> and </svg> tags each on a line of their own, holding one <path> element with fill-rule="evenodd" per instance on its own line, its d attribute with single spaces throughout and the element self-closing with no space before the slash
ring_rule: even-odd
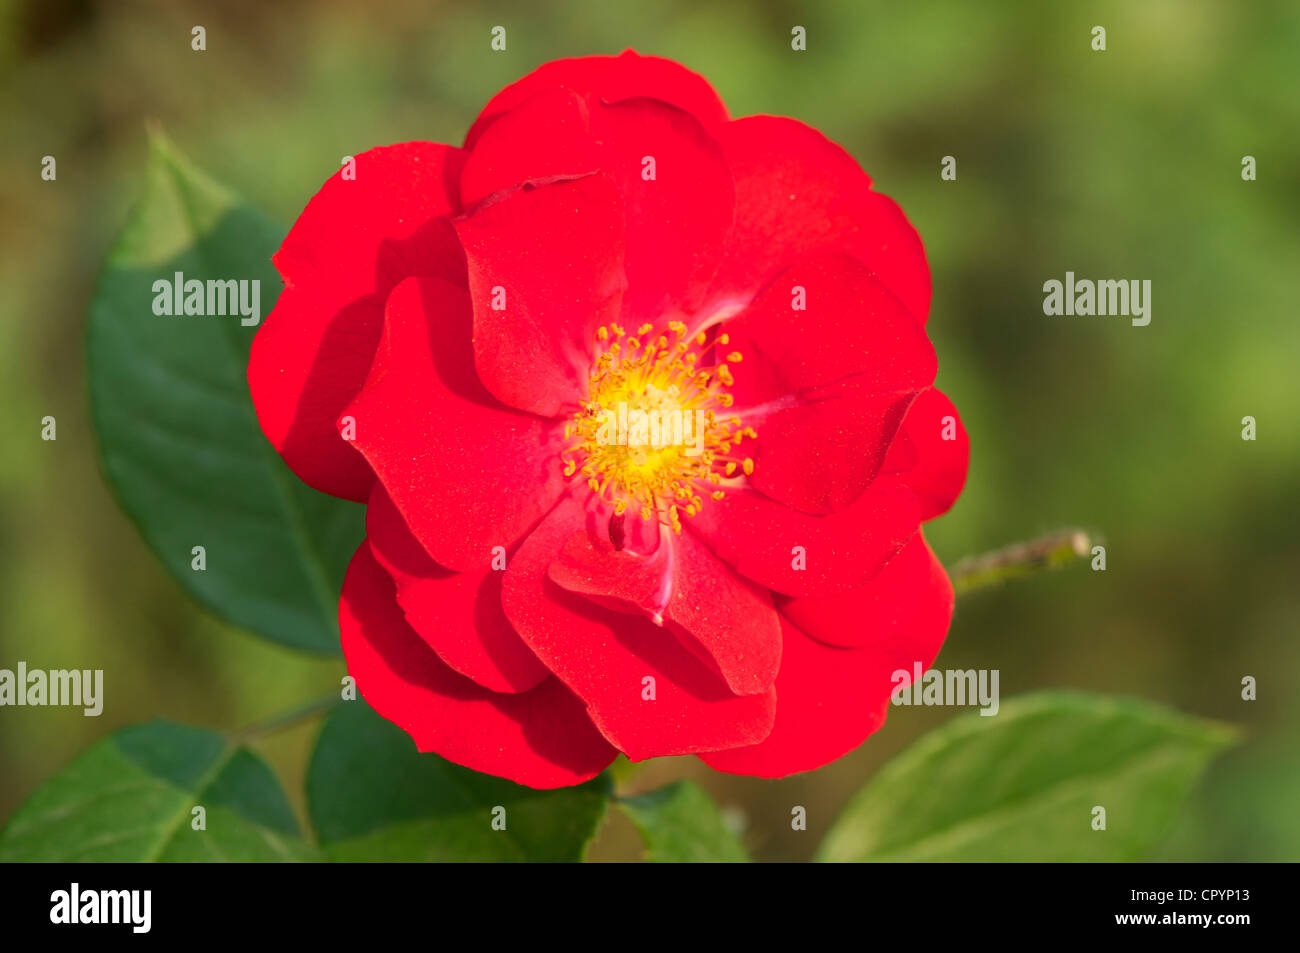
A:
<svg viewBox="0 0 1300 953">
<path fill-rule="evenodd" d="M 365 510 L 370 551 L 398 588 L 406 620 L 438 657 L 493 692 L 526 692 L 550 676 L 500 607 L 507 554 L 471 572 L 445 569 L 411 533 L 384 486 Z"/>
</svg>

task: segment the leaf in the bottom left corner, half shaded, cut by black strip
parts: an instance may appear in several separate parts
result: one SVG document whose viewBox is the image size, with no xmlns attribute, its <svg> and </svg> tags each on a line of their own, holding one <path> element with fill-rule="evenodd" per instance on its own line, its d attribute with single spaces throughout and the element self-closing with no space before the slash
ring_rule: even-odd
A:
<svg viewBox="0 0 1300 953">
<path fill-rule="evenodd" d="M 195 831 L 194 807 L 205 810 Z M 270 768 L 202 728 L 124 728 L 46 781 L 0 833 L 0 861 L 306 861 Z"/>
</svg>

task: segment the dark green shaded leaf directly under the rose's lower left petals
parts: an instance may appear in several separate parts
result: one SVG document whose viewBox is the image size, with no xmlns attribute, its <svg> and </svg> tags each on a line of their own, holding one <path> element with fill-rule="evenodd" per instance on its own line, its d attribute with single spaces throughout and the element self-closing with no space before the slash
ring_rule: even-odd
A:
<svg viewBox="0 0 1300 953">
<path fill-rule="evenodd" d="M 608 794 L 603 775 L 533 790 L 421 754 L 363 701 L 330 714 L 307 771 L 312 824 L 334 861 L 581 861 Z"/>
</svg>

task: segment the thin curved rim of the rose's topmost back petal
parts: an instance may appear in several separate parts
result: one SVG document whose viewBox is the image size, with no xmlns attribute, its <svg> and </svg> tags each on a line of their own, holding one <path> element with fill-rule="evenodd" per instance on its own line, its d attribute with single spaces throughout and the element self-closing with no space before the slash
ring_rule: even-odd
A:
<svg viewBox="0 0 1300 953">
<path fill-rule="evenodd" d="M 727 121 L 727 107 L 702 75 L 672 60 L 625 49 L 619 56 L 552 60 L 511 83 L 484 107 L 465 137 L 465 148 L 472 147 L 502 113 L 555 86 L 590 94 L 606 103 L 636 96 L 662 99 L 692 113 L 707 127 Z"/>
</svg>

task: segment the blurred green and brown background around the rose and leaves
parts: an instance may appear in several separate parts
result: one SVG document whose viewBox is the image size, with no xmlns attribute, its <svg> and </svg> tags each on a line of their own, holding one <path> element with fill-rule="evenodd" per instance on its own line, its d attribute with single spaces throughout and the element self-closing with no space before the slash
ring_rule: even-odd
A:
<svg viewBox="0 0 1300 953">
<path fill-rule="evenodd" d="M 498 23 L 507 52 L 489 49 Z M 205 616 L 100 478 L 82 339 L 140 192 L 146 121 L 287 225 L 341 156 L 459 143 L 538 64 L 625 47 L 703 73 L 734 116 L 818 126 L 919 229 L 939 382 L 972 445 L 965 495 L 928 529 L 940 558 L 1066 525 L 1102 537 L 1105 573 L 963 598 L 939 664 L 998 668 L 1004 698 L 1074 686 L 1244 725 L 1158 855 L 1300 859 L 1294 0 L 0 3 L 0 667 L 103 668 L 107 696 L 100 718 L 0 709 L 0 818 L 114 728 L 242 727 L 343 673 Z M 1043 282 L 1066 270 L 1149 278 L 1150 325 L 1045 317 Z M 697 776 L 757 857 L 803 859 L 885 758 L 953 714 L 896 710 L 858 751 L 781 781 L 677 758 L 634 783 Z M 315 729 L 259 744 L 299 807 Z M 593 857 L 636 855 L 614 816 Z"/>
</svg>

